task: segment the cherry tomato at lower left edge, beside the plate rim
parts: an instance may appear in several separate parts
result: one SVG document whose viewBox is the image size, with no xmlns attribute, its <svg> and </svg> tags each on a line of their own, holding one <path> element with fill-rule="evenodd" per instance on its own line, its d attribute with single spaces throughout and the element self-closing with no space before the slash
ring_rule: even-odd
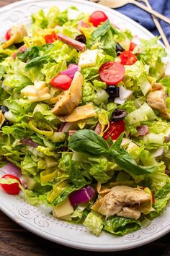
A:
<svg viewBox="0 0 170 256">
<path fill-rule="evenodd" d="M 11 174 L 6 174 L 2 176 L 2 179 L 17 179 L 17 181 L 21 183 L 20 179 L 17 176 L 11 175 Z M 18 195 L 20 192 L 19 184 L 13 183 L 13 184 L 1 184 L 1 187 L 5 190 L 6 193 L 9 195 Z"/>
</svg>

